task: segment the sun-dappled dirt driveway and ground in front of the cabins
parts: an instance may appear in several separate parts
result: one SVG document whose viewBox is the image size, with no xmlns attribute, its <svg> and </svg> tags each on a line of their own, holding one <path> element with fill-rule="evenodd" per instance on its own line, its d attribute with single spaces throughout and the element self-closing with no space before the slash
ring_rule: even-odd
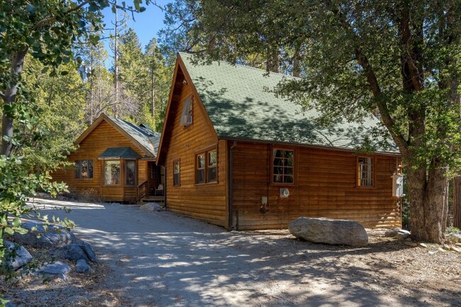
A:
<svg viewBox="0 0 461 307">
<path fill-rule="evenodd" d="M 16 307 L 461 306 L 461 253 L 409 247 L 384 230 L 370 230 L 367 247 L 332 246 L 139 206 L 36 201 L 76 222 L 101 262 L 67 281 L 0 281 Z"/>
</svg>

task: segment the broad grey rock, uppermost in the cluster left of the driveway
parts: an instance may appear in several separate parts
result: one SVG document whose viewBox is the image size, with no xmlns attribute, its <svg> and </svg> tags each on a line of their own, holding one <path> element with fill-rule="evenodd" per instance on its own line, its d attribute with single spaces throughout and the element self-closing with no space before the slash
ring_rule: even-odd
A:
<svg viewBox="0 0 461 307">
<path fill-rule="evenodd" d="M 21 225 L 28 231 L 25 235 L 14 234 L 14 240 L 23 245 L 39 248 L 55 248 L 72 243 L 76 240 L 75 235 L 65 230 L 61 225 L 50 224 L 45 230 L 43 223 L 28 221 Z M 35 228 L 34 230 L 32 230 Z"/>
</svg>

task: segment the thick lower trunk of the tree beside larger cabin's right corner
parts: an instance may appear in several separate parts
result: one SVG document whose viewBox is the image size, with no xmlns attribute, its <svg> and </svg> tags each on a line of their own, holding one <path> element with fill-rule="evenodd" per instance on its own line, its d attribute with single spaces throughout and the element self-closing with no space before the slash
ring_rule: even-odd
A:
<svg viewBox="0 0 461 307">
<path fill-rule="evenodd" d="M 445 168 L 433 162 L 426 174 L 424 167 L 409 167 L 407 184 L 410 201 L 411 238 L 416 241 L 443 243 L 443 215 L 448 197 Z"/>
</svg>

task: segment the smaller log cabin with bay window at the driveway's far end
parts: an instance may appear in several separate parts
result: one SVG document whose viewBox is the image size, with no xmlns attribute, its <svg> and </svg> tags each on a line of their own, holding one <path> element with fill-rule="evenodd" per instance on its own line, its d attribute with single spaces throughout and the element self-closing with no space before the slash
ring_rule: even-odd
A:
<svg viewBox="0 0 461 307">
<path fill-rule="evenodd" d="M 52 174 L 77 196 L 136 203 L 163 201 L 165 172 L 155 163 L 160 133 L 104 113 L 76 140 L 72 167 Z M 158 189 L 160 186 L 161 189 Z"/>
</svg>

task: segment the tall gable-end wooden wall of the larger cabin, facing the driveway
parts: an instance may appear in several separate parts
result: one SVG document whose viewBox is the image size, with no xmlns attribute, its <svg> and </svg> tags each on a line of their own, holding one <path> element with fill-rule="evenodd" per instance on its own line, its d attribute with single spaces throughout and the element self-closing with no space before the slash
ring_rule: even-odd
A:
<svg viewBox="0 0 461 307">
<path fill-rule="evenodd" d="M 199 99 L 194 98 L 194 121 L 184 127 L 179 125 L 184 101 L 191 95 L 189 84 L 179 84 L 171 102 L 169 122 L 165 136 L 168 144 L 165 159 L 166 205 L 167 210 L 181 213 L 203 221 L 227 225 L 227 185 L 226 185 L 226 141 L 218 142 L 218 137 L 209 123 L 208 116 Z M 165 138 L 164 136 L 164 138 Z M 218 182 L 195 184 L 195 155 L 215 147 L 218 155 Z M 173 185 L 173 162 L 180 160 L 179 186 Z"/>
</svg>

